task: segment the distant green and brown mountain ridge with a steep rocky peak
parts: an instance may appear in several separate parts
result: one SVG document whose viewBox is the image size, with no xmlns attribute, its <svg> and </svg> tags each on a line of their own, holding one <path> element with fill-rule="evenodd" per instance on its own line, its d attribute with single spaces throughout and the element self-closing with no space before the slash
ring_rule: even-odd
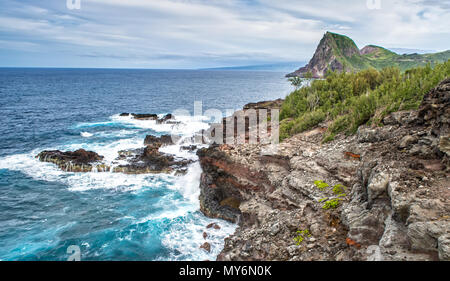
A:
<svg viewBox="0 0 450 281">
<path fill-rule="evenodd" d="M 440 63 L 450 59 L 450 50 L 434 54 L 403 54 L 376 45 L 358 49 L 355 42 L 341 34 L 327 32 L 319 43 L 310 62 L 287 77 L 305 76 L 311 73 L 314 78 L 322 78 L 328 70 L 355 72 L 367 68 L 382 69 L 397 66 L 401 70 Z"/>
</svg>

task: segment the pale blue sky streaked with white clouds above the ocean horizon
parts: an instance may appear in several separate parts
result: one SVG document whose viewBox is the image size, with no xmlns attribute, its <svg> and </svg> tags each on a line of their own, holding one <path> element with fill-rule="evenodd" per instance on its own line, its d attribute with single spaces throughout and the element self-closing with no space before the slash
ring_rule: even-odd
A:
<svg viewBox="0 0 450 281">
<path fill-rule="evenodd" d="M 359 47 L 450 49 L 450 0 L 80 0 L 81 9 L 66 2 L 0 0 L 0 66 L 308 61 L 326 31 Z"/>
</svg>

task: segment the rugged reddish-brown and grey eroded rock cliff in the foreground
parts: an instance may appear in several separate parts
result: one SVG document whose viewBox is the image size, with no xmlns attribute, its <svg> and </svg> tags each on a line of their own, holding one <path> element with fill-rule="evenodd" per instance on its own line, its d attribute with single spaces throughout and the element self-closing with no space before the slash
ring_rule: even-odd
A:
<svg viewBox="0 0 450 281">
<path fill-rule="evenodd" d="M 271 155 L 199 151 L 201 210 L 239 224 L 218 259 L 449 260 L 450 79 L 382 127 L 321 144 L 324 127 Z"/>
</svg>

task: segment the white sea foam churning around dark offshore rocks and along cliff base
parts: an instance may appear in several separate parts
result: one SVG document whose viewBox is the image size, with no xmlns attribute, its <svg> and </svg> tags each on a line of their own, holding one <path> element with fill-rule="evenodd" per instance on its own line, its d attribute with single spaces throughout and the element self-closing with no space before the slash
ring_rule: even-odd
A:
<svg viewBox="0 0 450 281">
<path fill-rule="evenodd" d="M 162 116 L 162 115 L 161 115 Z M 223 248 L 224 238 L 235 231 L 234 224 L 219 221 L 220 230 L 208 229 L 206 225 L 218 220 L 206 218 L 199 212 L 200 194 L 199 182 L 201 167 L 198 162 L 191 164 L 184 176 L 174 176 L 167 174 L 158 175 L 126 175 L 120 173 L 67 173 L 59 170 L 56 165 L 40 162 L 35 158 L 42 150 L 58 149 L 62 151 L 73 151 L 79 148 L 95 151 L 103 155 L 104 162 L 108 165 L 123 164 L 116 160 L 118 151 L 127 149 L 142 148 L 143 138 L 137 136 L 142 130 L 149 130 L 149 134 L 154 132 L 160 134 L 173 134 L 181 136 L 181 139 L 174 145 L 165 146 L 160 149 L 163 153 L 172 154 L 178 158 L 197 161 L 195 152 L 182 150 L 182 146 L 197 145 L 192 137 L 198 131 L 207 129 L 208 124 L 205 117 L 177 116 L 177 124 L 157 124 L 156 121 L 136 120 L 129 116 L 114 115 L 107 122 L 82 123 L 76 128 L 86 128 L 80 133 L 79 142 L 68 143 L 61 146 L 38 148 L 30 153 L 16 154 L 0 158 L 0 169 L 16 170 L 25 173 L 36 180 L 60 182 L 68 186 L 73 192 L 84 192 L 91 189 L 115 189 L 123 192 L 140 192 L 146 188 L 169 188 L 177 191 L 181 196 L 174 197 L 171 193 L 167 198 L 161 198 L 156 204 L 159 212 L 151 213 L 141 218 L 129 217 L 133 223 L 143 223 L 154 220 L 171 220 L 170 228 L 163 233 L 161 241 L 173 254 L 171 260 L 214 260 Z M 96 131 L 95 134 L 88 132 L 88 128 L 100 126 L 124 126 L 129 129 L 120 131 Z M 110 137 L 120 137 L 115 141 L 108 141 Z M 98 142 L 85 143 L 83 138 L 99 139 Z M 201 145 L 200 145 L 201 146 Z M 167 203 L 170 202 L 170 203 Z M 158 206 L 156 206 L 158 207 Z M 180 219 L 182 218 L 182 219 Z M 208 233 L 207 240 L 203 238 L 203 232 Z M 131 239 L 131 235 L 129 237 Z M 128 237 L 127 237 L 128 239 Z M 199 249 L 204 242 L 211 244 L 211 252 Z"/>
</svg>

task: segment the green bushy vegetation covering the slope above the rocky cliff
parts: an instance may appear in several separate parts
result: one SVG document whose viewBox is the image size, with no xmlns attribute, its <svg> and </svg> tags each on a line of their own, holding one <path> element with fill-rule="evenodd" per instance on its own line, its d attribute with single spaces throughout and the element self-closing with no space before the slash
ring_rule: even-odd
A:
<svg viewBox="0 0 450 281">
<path fill-rule="evenodd" d="M 363 124 L 379 125 L 391 112 L 417 109 L 425 93 L 450 76 L 450 60 L 402 72 L 388 67 L 357 73 L 328 72 L 325 79 L 292 92 L 280 112 L 280 138 L 331 121 L 324 141 L 354 134 Z"/>
</svg>

